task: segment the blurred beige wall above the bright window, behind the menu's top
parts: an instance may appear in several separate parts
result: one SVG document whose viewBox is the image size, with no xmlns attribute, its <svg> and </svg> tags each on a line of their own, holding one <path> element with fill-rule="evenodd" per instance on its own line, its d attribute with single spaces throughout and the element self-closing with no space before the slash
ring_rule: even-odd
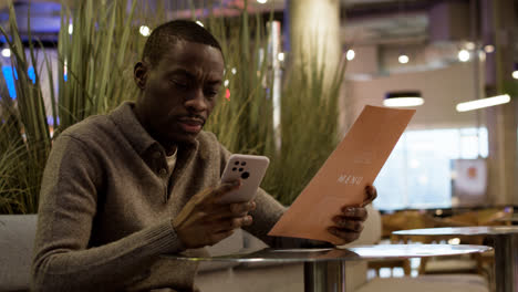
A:
<svg viewBox="0 0 518 292">
<path fill-rule="evenodd" d="M 364 105 L 383 106 L 385 93 L 390 91 L 418 90 L 425 100 L 417 109 L 410 129 L 473 127 L 477 125 L 477 113 L 457 113 L 455 105 L 475 96 L 474 66 L 468 63 L 454 63 L 448 67 L 400 73 L 372 80 L 348 80 L 340 101 L 341 125 L 348 129 Z M 479 121 L 485 116 L 479 111 Z"/>
</svg>

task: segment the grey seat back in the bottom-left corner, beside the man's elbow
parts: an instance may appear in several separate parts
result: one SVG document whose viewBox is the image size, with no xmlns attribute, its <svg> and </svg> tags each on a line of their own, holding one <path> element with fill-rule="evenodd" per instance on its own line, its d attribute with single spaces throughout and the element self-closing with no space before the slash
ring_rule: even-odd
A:
<svg viewBox="0 0 518 292">
<path fill-rule="evenodd" d="M 29 290 L 37 215 L 0 215 L 0 291 Z"/>
</svg>

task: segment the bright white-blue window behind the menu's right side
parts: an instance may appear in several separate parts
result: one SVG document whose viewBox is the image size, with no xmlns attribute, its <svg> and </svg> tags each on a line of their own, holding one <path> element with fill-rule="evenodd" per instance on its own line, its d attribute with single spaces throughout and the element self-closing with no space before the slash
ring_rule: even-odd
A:
<svg viewBox="0 0 518 292">
<path fill-rule="evenodd" d="M 477 137 L 478 132 L 478 137 Z M 486 128 L 408 131 L 374 181 L 380 210 L 452 207 L 452 159 L 487 157 Z"/>
</svg>

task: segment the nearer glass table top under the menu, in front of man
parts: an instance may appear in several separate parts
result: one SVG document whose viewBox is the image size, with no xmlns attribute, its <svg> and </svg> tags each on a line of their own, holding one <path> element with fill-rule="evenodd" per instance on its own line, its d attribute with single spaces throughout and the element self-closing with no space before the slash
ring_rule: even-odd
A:
<svg viewBox="0 0 518 292">
<path fill-rule="evenodd" d="M 408 259 L 436 255 L 457 255 L 489 251 L 485 246 L 450 244 L 373 244 L 349 249 L 262 249 L 242 250 L 227 255 L 190 257 L 164 254 L 166 258 L 186 261 L 231 261 L 231 262 L 319 262 Z"/>
</svg>

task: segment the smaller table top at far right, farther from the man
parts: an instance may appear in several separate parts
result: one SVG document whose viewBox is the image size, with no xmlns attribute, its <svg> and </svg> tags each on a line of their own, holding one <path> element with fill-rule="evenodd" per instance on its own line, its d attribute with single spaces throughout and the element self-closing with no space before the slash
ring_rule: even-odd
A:
<svg viewBox="0 0 518 292">
<path fill-rule="evenodd" d="M 398 236 L 498 236 L 518 233 L 518 226 L 475 226 L 408 229 L 392 232 Z"/>
</svg>

